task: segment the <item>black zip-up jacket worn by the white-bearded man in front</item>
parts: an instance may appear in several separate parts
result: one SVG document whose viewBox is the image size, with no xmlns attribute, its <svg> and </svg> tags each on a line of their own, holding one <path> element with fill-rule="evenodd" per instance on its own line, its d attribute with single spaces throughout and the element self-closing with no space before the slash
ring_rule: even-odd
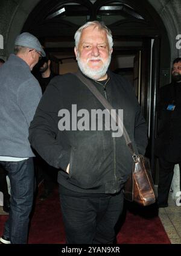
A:
<svg viewBox="0 0 181 256">
<path fill-rule="evenodd" d="M 139 153 L 145 153 L 147 126 L 132 86 L 120 75 L 109 72 L 106 96 L 114 109 L 123 109 L 124 125 Z M 84 193 L 116 193 L 132 170 L 132 155 L 124 137 L 112 137 L 111 130 L 58 129 L 61 109 L 71 112 L 104 109 L 92 92 L 74 74 L 54 77 L 43 94 L 30 126 L 30 142 L 48 164 L 60 168 L 58 182 Z M 104 94 L 102 85 L 95 86 Z M 75 116 L 74 116 L 75 117 Z M 77 121 L 80 118 L 77 118 Z M 65 172 L 70 163 L 69 174 Z"/>
</svg>

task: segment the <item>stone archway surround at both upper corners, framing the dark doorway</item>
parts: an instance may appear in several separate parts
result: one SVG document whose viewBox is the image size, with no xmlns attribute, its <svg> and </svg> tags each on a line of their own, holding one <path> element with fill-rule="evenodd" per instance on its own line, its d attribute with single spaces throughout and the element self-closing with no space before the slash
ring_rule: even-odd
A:
<svg viewBox="0 0 181 256">
<path fill-rule="evenodd" d="M 13 42 L 31 13 L 40 0 L 1 0 L 1 34 L 4 36 L 4 50 L 0 50 L 0 55 L 5 57 L 13 51 Z M 167 28 L 170 39 L 171 60 L 181 55 L 181 49 L 176 48 L 176 36 L 181 34 L 181 22 L 179 13 L 181 2 L 179 0 L 148 0 L 155 8 L 160 18 Z"/>
</svg>

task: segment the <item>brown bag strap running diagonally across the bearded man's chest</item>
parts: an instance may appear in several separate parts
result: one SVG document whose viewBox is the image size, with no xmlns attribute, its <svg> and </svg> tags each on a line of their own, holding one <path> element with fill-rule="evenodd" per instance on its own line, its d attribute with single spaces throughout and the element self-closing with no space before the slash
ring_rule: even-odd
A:
<svg viewBox="0 0 181 256">
<path fill-rule="evenodd" d="M 112 109 L 113 107 L 111 106 L 111 104 L 109 103 L 109 101 L 106 100 L 106 98 L 103 97 L 103 95 L 98 91 L 98 89 L 95 87 L 95 85 L 86 77 L 84 77 L 83 74 L 81 74 L 80 71 L 78 71 L 77 73 L 74 73 L 82 83 L 84 83 L 84 85 L 87 86 L 87 88 L 92 92 L 92 94 L 95 95 L 95 97 L 97 97 L 97 99 L 101 102 L 101 104 L 103 104 L 103 106 L 105 107 L 105 109 L 109 112 L 109 114 L 111 115 L 111 117 L 113 118 L 113 120 L 116 122 L 116 125 L 123 130 L 123 136 L 125 139 L 125 143 L 127 144 L 127 147 L 129 148 L 130 152 L 132 153 L 132 157 L 134 159 L 134 161 L 137 159 L 137 156 L 135 154 L 135 150 L 133 149 L 133 144 L 132 141 L 130 139 L 129 134 L 127 133 L 127 130 L 124 127 L 124 124 L 122 123 L 121 119 L 119 118 L 119 115 L 116 113 L 116 117 L 115 115 L 112 114 Z"/>
</svg>

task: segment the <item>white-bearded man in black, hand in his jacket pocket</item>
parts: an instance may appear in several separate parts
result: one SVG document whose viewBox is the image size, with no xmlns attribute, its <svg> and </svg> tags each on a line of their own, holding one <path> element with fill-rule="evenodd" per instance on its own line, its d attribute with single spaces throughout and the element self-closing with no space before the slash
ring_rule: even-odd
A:
<svg viewBox="0 0 181 256">
<path fill-rule="evenodd" d="M 144 154 L 147 126 L 132 85 L 108 70 L 113 51 L 111 31 L 91 21 L 81 26 L 74 38 L 81 75 L 113 109 L 123 109 L 124 126 L 138 152 Z M 132 155 L 122 136 L 115 138 L 109 127 L 92 125 L 91 110 L 105 109 L 75 74 L 54 77 L 50 85 L 37 107 L 29 139 L 48 164 L 59 168 L 66 243 L 113 243 Z M 102 122 L 99 127 L 104 121 L 97 117 L 98 126 Z"/>
</svg>

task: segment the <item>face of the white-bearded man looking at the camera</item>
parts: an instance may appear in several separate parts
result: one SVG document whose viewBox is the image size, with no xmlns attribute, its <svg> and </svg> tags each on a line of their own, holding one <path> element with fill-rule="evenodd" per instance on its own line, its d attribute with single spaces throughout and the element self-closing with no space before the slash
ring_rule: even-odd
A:
<svg viewBox="0 0 181 256">
<path fill-rule="evenodd" d="M 94 80 L 106 79 L 112 54 L 106 31 L 94 25 L 84 28 L 74 51 L 81 72 Z"/>
</svg>

